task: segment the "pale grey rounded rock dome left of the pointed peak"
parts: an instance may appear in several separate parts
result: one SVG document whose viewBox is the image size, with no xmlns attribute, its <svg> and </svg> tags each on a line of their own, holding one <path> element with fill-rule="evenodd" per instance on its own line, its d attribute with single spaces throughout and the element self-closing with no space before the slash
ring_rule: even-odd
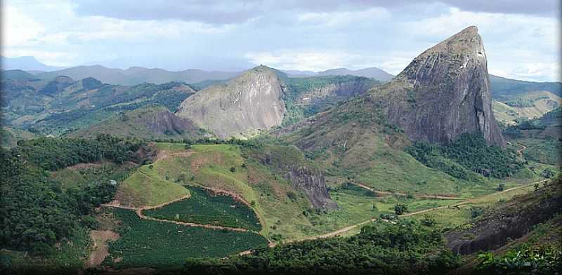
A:
<svg viewBox="0 0 562 275">
<path fill-rule="evenodd" d="M 176 114 L 223 138 L 268 130 L 280 125 L 286 111 L 279 74 L 255 67 L 225 84 L 200 90 L 182 102 Z"/>
</svg>

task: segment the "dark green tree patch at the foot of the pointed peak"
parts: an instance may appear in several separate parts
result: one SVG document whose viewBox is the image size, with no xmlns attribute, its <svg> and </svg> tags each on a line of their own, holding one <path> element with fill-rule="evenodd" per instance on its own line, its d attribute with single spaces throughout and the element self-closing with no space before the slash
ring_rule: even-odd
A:
<svg viewBox="0 0 562 275">
<path fill-rule="evenodd" d="M 406 151 L 426 166 L 462 180 L 478 180 L 470 172 L 504 178 L 523 167 L 516 159 L 516 152 L 488 146 L 482 135 L 463 134 L 450 145 L 415 142 Z"/>
</svg>

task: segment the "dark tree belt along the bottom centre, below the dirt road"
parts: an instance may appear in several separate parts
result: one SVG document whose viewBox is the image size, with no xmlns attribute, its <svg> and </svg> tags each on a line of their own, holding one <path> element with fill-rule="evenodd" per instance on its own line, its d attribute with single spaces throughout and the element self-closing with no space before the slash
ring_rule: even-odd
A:
<svg viewBox="0 0 562 275">
<path fill-rule="evenodd" d="M 197 274 L 446 274 L 458 259 L 439 232 L 415 222 L 380 222 L 360 234 L 255 250 L 226 260 L 188 259 Z"/>
</svg>

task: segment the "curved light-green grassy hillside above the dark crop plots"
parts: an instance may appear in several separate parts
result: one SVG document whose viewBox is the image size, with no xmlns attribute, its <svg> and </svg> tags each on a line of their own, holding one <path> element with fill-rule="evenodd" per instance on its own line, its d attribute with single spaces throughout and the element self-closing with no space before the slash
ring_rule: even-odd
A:
<svg viewBox="0 0 562 275">
<path fill-rule="evenodd" d="M 159 142 L 157 145 L 168 147 L 170 144 Z M 251 208 L 259 213 L 263 222 L 260 233 L 269 238 L 306 236 L 301 227 L 313 226 L 303 215 L 303 210 L 310 208 L 308 199 L 299 192 L 296 192 L 298 196 L 294 201 L 289 199 L 287 192 L 295 192 L 291 183 L 255 159 L 244 158 L 240 147 L 193 145 L 189 150 L 183 148 L 181 145 L 175 147 L 177 152 L 183 150 L 192 154 L 161 159 L 153 164 L 150 175 L 155 178 L 168 175 L 171 182 L 181 185 L 198 185 L 240 194 L 248 203 L 253 202 Z M 245 168 L 242 167 L 244 163 Z M 230 168 L 235 168 L 235 171 Z"/>
</svg>

